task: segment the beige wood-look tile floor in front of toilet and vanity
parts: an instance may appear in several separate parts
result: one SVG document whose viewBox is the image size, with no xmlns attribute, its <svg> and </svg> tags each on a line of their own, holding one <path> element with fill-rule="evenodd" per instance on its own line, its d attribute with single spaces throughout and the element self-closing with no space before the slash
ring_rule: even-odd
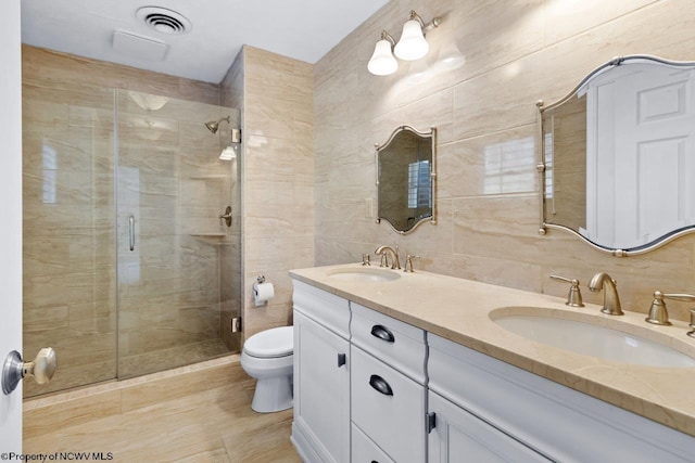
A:
<svg viewBox="0 0 695 463">
<path fill-rule="evenodd" d="M 146 400 L 141 407 L 90 421 L 75 422 L 68 411 L 64 423 L 25 436 L 24 451 L 112 452 L 115 462 L 300 462 L 290 442 L 292 410 L 254 412 L 255 382 L 235 380 L 170 400 L 163 394 L 160 402 Z M 162 391 L 160 386 L 150 393 Z M 40 420 L 40 412 L 34 411 L 33 417 Z"/>
</svg>

